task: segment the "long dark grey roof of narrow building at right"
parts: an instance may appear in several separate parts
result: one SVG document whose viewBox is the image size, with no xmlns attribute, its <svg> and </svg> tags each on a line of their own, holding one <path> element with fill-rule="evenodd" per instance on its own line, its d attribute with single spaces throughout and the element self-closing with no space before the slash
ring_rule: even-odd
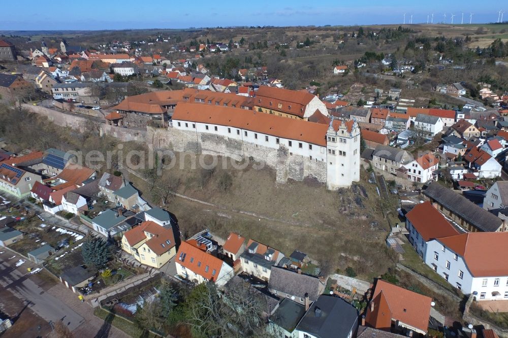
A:
<svg viewBox="0 0 508 338">
<path fill-rule="evenodd" d="M 468 223 L 481 231 L 497 231 L 502 225 L 503 221 L 497 216 L 437 182 L 431 182 L 428 188 L 423 191 L 423 194 L 467 220 Z"/>
</svg>

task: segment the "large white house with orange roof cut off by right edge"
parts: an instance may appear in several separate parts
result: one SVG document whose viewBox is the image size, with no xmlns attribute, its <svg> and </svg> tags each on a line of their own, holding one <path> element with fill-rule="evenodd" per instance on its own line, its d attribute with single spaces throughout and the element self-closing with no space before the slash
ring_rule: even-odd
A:
<svg viewBox="0 0 508 338">
<path fill-rule="evenodd" d="M 425 263 L 463 294 L 508 299 L 508 232 L 467 232 L 427 244 Z"/>
</svg>

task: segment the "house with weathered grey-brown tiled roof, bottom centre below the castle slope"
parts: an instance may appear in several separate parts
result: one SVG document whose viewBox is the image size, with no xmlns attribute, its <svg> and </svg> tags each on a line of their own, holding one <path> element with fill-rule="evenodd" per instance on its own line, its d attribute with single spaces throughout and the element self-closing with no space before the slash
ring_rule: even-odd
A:
<svg viewBox="0 0 508 338">
<path fill-rule="evenodd" d="M 280 298 L 289 298 L 301 305 L 309 305 L 309 301 L 325 291 L 323 281 L 314 276 L 304 275 L 279 266 L 273 266 L 268 280 L 268 290 Z"/>
</svg>

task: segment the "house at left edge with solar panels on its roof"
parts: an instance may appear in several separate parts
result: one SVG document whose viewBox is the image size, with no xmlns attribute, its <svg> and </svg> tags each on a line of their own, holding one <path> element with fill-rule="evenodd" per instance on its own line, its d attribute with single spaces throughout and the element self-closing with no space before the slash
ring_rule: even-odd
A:
<svg viewBox="0 0 508 338">
<path fill-rule="evenodd" d="M 41 182 L 41 175 L 27 172 L 7 163 L 0 163 L 0 190 L 16 197 L 30 193 L 36 182 Z"/>
</svg>

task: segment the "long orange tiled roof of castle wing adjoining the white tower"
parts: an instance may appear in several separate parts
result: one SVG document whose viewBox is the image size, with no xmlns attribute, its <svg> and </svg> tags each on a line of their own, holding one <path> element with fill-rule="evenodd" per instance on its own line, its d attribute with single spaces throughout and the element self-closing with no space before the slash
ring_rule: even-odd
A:
<svg viewBox="0 0 508 338">
<path fill-rule="evenodd" d="M 325 135 L 328 130 L 328 125 L 321 123 L 222 106 L 208 106 L 206 110 L 203 110 L 202 105 L 188 103 L 176 106 L 173 120 L 230 126 L 322 147 L 326 146 Z M 338 130 L 341 122 L 334 120 L 335 130 Z M 347 130 L 351 131 L 353 121 L 347 121 L 345 125 Z"/>
</svg>

